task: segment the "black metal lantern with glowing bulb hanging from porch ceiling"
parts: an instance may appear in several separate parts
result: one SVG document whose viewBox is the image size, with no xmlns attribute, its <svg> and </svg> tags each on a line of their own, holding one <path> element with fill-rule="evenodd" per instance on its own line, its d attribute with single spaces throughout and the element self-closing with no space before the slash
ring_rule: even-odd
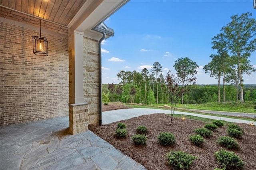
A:
<svg viewBox="0 0 256 170">
<path fill-rule="evenodd" d="M 33 36 L 33 53 L 36 55 L 48 56 L 47 38 L 41 36 L 41 19 L 40 19 L 40 37 Z"/>
</svg>

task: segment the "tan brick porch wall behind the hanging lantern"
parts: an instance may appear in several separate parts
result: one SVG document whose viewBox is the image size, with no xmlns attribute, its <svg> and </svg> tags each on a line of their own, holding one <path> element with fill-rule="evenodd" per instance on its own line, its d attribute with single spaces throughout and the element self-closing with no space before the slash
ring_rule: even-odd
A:
<svg viewBox="0 0 256 170">
<path fill-rule="evenodd" d="M 0 126 L 68 115 L 68 38 L 42 32 L 49 55 L 39 56 L 39 34 L 0 22 Z"/>
</svg>

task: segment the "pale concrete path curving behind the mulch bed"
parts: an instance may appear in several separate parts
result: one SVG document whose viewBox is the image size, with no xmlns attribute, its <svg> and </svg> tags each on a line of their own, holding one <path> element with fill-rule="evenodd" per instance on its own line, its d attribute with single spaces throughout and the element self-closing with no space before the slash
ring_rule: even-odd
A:
<svg viewBox="0 0 256 170">
<path fill-rule="evenodd" d="M 166 113 L 171 114 L 170 110 L 164 110 L 164 109 L 144 109 L 144 108 L 134 108 L 134 109 L 119 109 L 114 111 L 105 111 L 102 113 L 102 119 L 103 124 L 108 124 L 116 121 L 121 121 L 124 119 L 130 119 L 132 117 L 138 117 L 142 115 L 150 115 L 154 113 Z M 182 115 L 191 115 L 196 117 L 204 117 L 208 119 L 214 119 L 214 120 L 222 120 L 232 123 L 253 123 L 256 125 L 254 121 L 246 121 L 242 119 L 232 119 L 232 118 L 226 118 L 221 116 L 210 116 L 210 115 L 201 115 L 197 113 L 188 113 L 188 112 L 180 112 L 175 111 L 174 114 L 182 114 Z"/>
</svg>

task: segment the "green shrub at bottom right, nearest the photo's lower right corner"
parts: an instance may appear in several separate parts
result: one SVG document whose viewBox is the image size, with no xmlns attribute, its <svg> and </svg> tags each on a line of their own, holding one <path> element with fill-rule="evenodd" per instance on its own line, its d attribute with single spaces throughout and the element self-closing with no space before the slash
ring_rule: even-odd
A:
<svg viewBox="0 0 256 170">
<path fill-rule="evenodd" d="M 226 150 L 219 150 L 218 152 L 214 152 L 214 156 L 216 157 L 218 164 L 225 169 L 232 169 L 232 170 L 240 170 L 243 169 L 245 165 L 242 159 L 234 154 L 234 152 L 228 152 Z"/>
</svg>

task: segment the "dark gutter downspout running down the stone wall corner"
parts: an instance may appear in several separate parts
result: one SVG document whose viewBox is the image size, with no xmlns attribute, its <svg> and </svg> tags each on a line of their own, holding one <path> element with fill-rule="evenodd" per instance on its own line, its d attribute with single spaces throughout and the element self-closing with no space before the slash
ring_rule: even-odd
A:
<svg viewBox="0 0 256 170">
<path fill-rule="evenodd" d="M 106 37 L 106 33 L 103 33 L 103 36 L 102 38 L 100 39 L 99 41 L 99 78 L 100 78 L 100 81 L 99 81 L 99 92 L 100 92 L 100 101 L 99 101 L 99 108 L 100 108 L 100 122 L 99 122 L 99 125 L 101 126 L 102 125 L 102 74 L 101 74 L 101 42 L 105 39 Z"/>
</svg>

